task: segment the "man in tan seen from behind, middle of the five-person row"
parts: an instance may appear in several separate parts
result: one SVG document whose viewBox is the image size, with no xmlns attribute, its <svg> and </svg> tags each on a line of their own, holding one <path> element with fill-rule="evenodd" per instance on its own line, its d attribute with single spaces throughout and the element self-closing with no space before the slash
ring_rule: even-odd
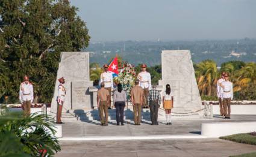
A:
<svg viewBox="0 0 256 157">
<path fill-rule="evenodd" d="M 134 124 L 140 125 L 142 117 L 143 89 L 139 86 L 140 80 L 135 81 L 135 86 L 131 89 L 131 102 L 133 103 Z"/>
</svg>

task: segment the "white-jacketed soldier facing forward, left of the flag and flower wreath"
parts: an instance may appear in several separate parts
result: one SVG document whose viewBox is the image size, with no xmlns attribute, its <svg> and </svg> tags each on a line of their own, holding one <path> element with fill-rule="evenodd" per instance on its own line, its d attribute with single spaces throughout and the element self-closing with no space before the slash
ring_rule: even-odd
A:
<svg viewBox="0 0 256 157">
<path fill-rule="evenodd" d="M 108 71 L 108 65 L 107 64 L 104 64 L 103 68 L 104 68 L 104 72 L 101 73 L 101 81 L 99 83 L 104 82 L 105 89 L 108 90 L 108 92 L 110 94 L 110 98 L 111 98 L 111 90 L 113 88 L 113 76 L 112 76 L 112 73 L 110 71 Z M 110 99 L 109 104 L 111 106 L 111 99 Z M 108 107 L 108 109 L 111 109 L 111 107 Z"/>
</svg>

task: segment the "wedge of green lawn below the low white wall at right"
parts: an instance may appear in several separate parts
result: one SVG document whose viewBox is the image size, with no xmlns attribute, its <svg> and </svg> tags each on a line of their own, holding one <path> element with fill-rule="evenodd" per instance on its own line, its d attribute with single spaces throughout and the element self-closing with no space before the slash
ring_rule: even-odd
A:
<svg viewBox="0 0 256 157">
<path fill-rule="evenodd" d="M 238 143 L 256 145 L 256 135 L 250 135 L 249 133 L 228 135 L 228 136 L 220 137 L 220 139 L 234 141 Z"/>
</svg>

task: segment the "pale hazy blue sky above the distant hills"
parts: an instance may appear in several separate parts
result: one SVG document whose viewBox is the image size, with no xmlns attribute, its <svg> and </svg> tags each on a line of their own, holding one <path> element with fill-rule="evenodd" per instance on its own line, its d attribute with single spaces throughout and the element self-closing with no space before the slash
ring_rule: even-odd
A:
<svg viewBox="0 0 256 157">
<path fill-rule="evenodd" d="M 70 0 L 92 42 L 256 38 L 255 0 Z"/>
</svg>

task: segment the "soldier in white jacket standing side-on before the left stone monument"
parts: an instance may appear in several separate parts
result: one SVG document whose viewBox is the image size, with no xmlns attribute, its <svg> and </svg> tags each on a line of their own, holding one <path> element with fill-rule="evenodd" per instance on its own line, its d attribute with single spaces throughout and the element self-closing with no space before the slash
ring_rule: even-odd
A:
<svg viewBox="0 0 256 157">
<path fill-rule="evenodd" d="M 62 113 L 62 107 L 66 97 L 66 89 L 63 86 L 63 84 L 65 83 L 65 79 L 64 77 L 61 77 L 60 79 L 58 79 L 58 81 L 60 82 L 60 84 L 58 85 L 58 96 L 57 96 L 58 106 L 57 106 L 57 122 L 56 123 L 62 123 L 61 113 Z"/>
</svg>

